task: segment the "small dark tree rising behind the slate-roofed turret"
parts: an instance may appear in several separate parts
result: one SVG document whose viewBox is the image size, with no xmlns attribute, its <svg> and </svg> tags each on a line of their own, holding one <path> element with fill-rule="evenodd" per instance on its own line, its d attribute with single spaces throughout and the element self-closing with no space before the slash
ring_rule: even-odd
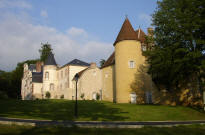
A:
<svg viewBox="0 0 205 135">
<path fill-rule="evenodd" d="M 40 60 L 44 62 L 48 57 L 49 53 L 52 52 L 53 49 L 51 48 L 51 45 L 48 42 L 45 44 L 41 43 L 41 45 L 41 49 L 39 49 Z"/>
</svg>

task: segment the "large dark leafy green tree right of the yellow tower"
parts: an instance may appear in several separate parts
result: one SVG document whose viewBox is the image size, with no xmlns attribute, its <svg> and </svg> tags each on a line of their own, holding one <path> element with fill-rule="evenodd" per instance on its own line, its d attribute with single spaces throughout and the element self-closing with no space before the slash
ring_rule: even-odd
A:
<svg viewBox="0 0 205 135">
<path fill-rule="evenodd" d="M 205 72 L 205 1 L 162 0 L 153 14 L 155 47 L 145 53 L 158 87 L 177 90 Z"/>
</svg>

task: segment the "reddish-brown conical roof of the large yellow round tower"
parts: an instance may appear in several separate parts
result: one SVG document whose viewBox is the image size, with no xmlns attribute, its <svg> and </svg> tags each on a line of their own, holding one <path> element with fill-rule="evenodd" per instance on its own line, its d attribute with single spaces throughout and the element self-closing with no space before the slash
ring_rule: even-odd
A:
<svg viewBox="0 0 205 135">
<path fill-rule="evenodd" d="M 137 40 L 137 34 L 128 18 L 125 19 L 114 45 L 122 40 Z"/>
</svg>

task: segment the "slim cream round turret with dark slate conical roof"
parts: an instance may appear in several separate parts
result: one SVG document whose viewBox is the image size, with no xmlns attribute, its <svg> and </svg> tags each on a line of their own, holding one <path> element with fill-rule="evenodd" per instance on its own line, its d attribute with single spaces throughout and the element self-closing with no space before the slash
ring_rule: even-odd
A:
<svg viewBox="0 0 205 135">
<path fill-rule="evenodd" d="M 50 53 L 45 60 L 43 67 L 43 97 L 46 98 L 46 92 L 50 93 L 50 98 L 55 98 L 57 89 L 57 64 L 53 53 Z"/>
</svg>

